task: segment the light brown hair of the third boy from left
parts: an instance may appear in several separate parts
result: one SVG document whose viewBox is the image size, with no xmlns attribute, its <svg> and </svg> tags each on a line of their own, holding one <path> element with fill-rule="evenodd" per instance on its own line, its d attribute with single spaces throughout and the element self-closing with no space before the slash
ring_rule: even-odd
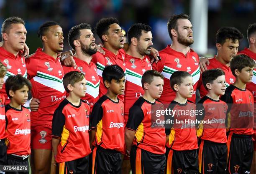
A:
<svg viewBox="0 0 256 174">
<path fill-rule="evenodd" d="M 74 86 L 75 83 L 82 81 L 84 79 L 84 74 L 78 71 L 71 71 L 63 77 L 63 85 L 67 93 L 69 93 L 69 89 L 67 86 L 71 84 Z"/>
</svg>

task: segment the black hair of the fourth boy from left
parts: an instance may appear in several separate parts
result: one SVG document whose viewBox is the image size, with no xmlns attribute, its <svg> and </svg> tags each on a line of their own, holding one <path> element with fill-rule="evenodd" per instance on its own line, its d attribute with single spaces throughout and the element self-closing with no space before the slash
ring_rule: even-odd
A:
<svg viewBox="0 0 256 174">
<path fill-rule="evenodd" d="M 118 65 L 106 66 L 102 72 L 103 82 L 111 82 L 112 79 L 118 81 L 124 76 L 125 74 L 123 72 L 123 69 Z"/>
</svg>

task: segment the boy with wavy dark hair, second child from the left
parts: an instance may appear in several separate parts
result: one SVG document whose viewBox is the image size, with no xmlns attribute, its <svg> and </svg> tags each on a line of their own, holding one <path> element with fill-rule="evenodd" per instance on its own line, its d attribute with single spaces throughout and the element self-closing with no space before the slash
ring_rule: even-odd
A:
<svg viewBox="0 0 256 174">
<path fill-rule="evenodd" d="M 28 166 L 30 149 L 30 111 L 22 105 L 28 100 L 31 83 L 21 75 L 10 76 L 5 82 L 10 104 L 5 106 L 7 165 Z M 29 171 L 8 172 L 28 174 Z"/>
</svg>

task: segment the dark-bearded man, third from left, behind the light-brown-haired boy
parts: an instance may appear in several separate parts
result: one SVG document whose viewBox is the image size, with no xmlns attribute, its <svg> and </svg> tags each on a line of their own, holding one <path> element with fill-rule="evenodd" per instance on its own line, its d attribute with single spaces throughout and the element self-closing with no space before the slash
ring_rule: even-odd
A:
<svg viewBox="0 0 256 174">
<path fill-rule="evenodd" d="M 99 98 L 100 79 L 97 75 L 96 65 L 91 62 L 92 55 L 96 53 L 95 38 L 91 31 L 90 24 L 81 23 L 69 30 L 69 45 L 76 51 L 73 56 L 77 68 L 63 66 L 64 73 L 79 71 L 84 74 L 87 81 L 86 95 L 82 98 L 92 107 Z"/>
</svg>

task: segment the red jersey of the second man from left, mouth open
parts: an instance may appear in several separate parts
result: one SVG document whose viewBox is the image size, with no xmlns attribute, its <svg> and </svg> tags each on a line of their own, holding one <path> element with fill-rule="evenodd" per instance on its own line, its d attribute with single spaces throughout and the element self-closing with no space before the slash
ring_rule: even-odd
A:
<svg viewBox="0 0 256 174">
<path fill-rule="evenodd" d="M 59 103 L 66 98 L 63 86 L 64 71 L 58 58 L 36 50 L 35 55 L 26 59 L 28 79 L 32 83 L 32 96 L 40 101 L 37 111 L 31 111 L 32 124 L 51 125 L 52 116 Z"/>
</svg>

